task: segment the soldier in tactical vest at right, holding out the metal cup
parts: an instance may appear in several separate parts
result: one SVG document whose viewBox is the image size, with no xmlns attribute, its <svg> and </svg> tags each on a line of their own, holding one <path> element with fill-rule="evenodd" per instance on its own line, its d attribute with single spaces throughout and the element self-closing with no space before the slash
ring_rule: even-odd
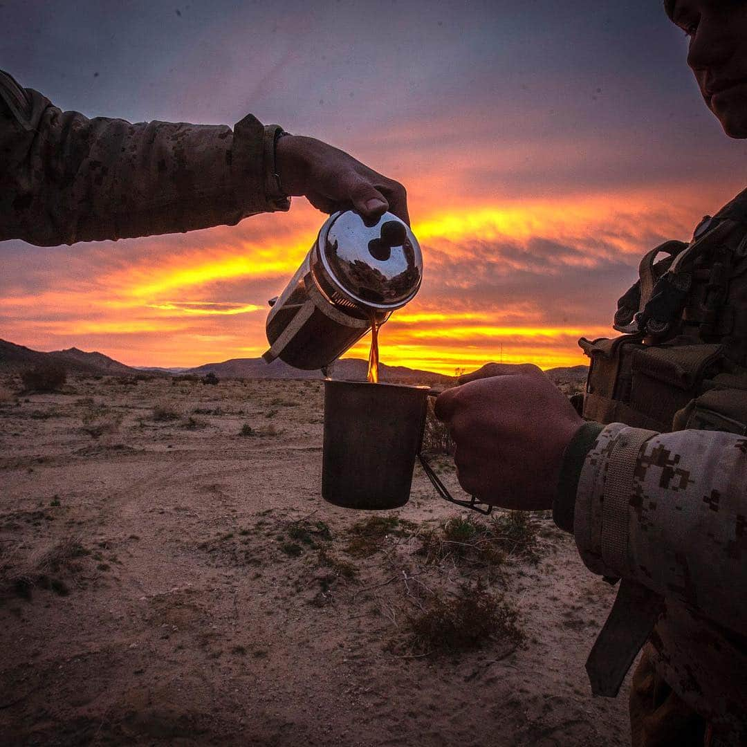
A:
<svg viewBox="0 0 747 747">
<path fill-rule="evenodd" d="M 747 137 L 747 3 L 668 0 L 730 137 Z M 655 261 L 657 255 L 667 255 Z M 592 691 L 630 689 L 635 747 L 747 744 L 747 190 L 649 252 L 591 358 L 583 418 L 533 366 L 491 364 L 438 398 L 459 481 L 553 509 L 619 592 Z"/>
</svg>

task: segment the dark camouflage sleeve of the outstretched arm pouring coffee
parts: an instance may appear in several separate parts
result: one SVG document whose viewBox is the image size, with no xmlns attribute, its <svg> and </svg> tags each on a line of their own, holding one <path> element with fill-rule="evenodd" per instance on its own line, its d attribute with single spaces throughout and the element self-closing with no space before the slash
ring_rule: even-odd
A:
<svg viewBox="0 0 747 747">
<path fill-rule="evenodd" d="M 233 131 L 88 119 L 0 71 L 0 240 L 55 246 L 190 231 L 287 210 L 277 125 Z"/>
</svg>

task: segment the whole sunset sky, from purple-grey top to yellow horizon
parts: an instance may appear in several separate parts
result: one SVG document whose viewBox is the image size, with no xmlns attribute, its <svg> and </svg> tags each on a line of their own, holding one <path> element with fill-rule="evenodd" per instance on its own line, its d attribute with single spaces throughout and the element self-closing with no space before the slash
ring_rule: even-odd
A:
<svg viewBox="0 0 747 747">
<path fill-rule="evenodd" d="M 420 294 L 382 362 L 584 359 L 643 252 L 744 187 L 659 0 L 4 0 L 0 67 L 89 116 L 310 134 L 406 185 Z M 0 243 L 0 337 L 129 365 L 256 357 L 324 216 L 40 248 Z M 363 357 L 365 343 L 350 354 Z"/>
</svg>

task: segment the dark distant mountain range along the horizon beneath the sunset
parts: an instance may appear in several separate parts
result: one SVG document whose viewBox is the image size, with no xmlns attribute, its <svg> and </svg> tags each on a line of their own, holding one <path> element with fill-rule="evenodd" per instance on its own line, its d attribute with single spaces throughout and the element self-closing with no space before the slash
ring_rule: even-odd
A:
<svg viewBox="0 0 747 747">
<path fill-rule="evenodd" d="M 183 376 L 187 373 L 205 376 L 214 373 L 220 379 L 321 379 L 321 371 L 300 371 L 281 360 L 266 363 L 261 358 L 232 358 L 221 363 L 205 363 L 195 368 L 156 368 L 126 366 L 103 353 L 85 353 L 77 347 L 56 350 L 54 353 L 40 353 L 38 350 L 12 342 L 0 340 L 0 372 L 18 373 L 26 368 L 44 363 L 63 365 L 69 373 L 82 373 L 89 376 L 134 376 L 137 373 L 152 373 L 154 376 Z M 334 379 L 365 379 L 368 361 L 346 358 L 335 362 L 332 367 Z M 572 368 L 551 368 L 548 376 L 554 382 L 583 382 L 586 379 L 586 366 Z M 385 382 L 403 384 L 438 385 L 450 382 L 452 376 L 444 376 L 433 371 L 418 371 L 405 366 L 379 365 L 379 378 Z"/>
</svg>

